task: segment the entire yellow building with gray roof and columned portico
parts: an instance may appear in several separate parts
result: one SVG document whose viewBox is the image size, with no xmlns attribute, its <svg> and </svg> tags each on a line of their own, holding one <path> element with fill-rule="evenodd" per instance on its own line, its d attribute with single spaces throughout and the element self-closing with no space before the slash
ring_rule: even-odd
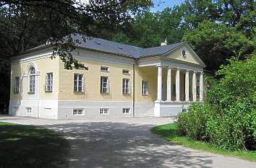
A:
<svg viewBox="0 0 256 168">
<path fill-rule="evenodd" d="M 93 38 L 73 52 L 88 71 L 64 69 L 52 51 L 42 45 L 12 58 L 9 115 L 159 117 L 203 100 L 205 64 L 187 43 L 138 48 Z"/>
</svg>

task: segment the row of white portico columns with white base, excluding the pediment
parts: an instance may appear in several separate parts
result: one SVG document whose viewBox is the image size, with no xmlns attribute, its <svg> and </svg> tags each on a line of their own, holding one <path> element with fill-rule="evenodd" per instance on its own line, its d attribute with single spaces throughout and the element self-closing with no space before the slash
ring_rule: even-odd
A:
<svg viewBox="0 0 256 168">
<path fill-rule="evenodd" d="M 203 72 L 171 66 L 157 66 L 158 89 L 157 100 L 154 102 L 156 117 L 177 115 L 182 108 L 187 108 L 190 102 L 203 100 Z M 163 97 L 163 68 L 167 68 L 166 100 Z M 175 81 L 171 74 L 174 71 Z M 184 82 L 182 81 L 184 76 Z M 197 82 L 199 81 L 199 82 Z M 191 86 L 190 86 L 191 85 Z M 173 87 L 172 87 L 173 86 Z M 175 86 L 175 87 L 174 87 Z M 184 88 L 184 89 L 182 89 Z M 183 92 L 184 91 L 184 92 Z M 199 95 L 198 95 L 199 93 Z"/>
</svg>

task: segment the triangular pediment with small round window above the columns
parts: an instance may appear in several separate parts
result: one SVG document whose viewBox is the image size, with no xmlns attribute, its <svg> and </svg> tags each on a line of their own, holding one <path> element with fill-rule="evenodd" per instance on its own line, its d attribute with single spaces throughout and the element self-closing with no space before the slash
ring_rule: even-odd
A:
<svg viewBox="0 0 256 168">
<path fill-rule="evenodd" d="M 182 54 L 182 52 L 185 54 Z M 172 58 L 187 63 L 194 63 L 205 67 L 205 63 L 202 62 L 202 60 L 197 56 L 195 51 L 192 50 L 192 48 L 190 48 L 189 45 L 187 45 L 187 43 L 180 45 L 175 50 L 171 50 L 170 52 L 166 53 L 163 57 Z"/>
</svg>

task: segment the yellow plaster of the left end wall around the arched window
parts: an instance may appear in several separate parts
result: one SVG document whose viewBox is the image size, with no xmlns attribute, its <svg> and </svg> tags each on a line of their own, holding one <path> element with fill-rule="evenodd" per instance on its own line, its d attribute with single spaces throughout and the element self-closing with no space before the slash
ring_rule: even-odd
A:
<svg viewBox="0 0 256 168">
<path fill-rule="evenodd" d="M 22 98 L 23 94 L 23 75 L 27 75 L 27 68 L 30 63 L 35 64 L 35 71 L 40 71 L 40 99 L 46 100 L 46 99 L 58 99 L 58 65 L 59 65 L 59 59 L 54 58 L 51 60 L 51 58 L 40 58 L 35 61 L 27 61 L 23 63 L 12 63 L 11 67 L 11 100 L 20 100 Z M 53 81 L 53 92 L 45 92 L 45 85 L 46 85 L 46 73 L 53 72 L 54 75 L 54 81 Z M 14 86 L 14 77 L 20 76 L 20 92 L 14 93 L 12 91 L 12 88 Z M 25 86 L 28 87 L 28 86 Z M 28 90 L 28 88 L 27 88 Z"/>
</svg>

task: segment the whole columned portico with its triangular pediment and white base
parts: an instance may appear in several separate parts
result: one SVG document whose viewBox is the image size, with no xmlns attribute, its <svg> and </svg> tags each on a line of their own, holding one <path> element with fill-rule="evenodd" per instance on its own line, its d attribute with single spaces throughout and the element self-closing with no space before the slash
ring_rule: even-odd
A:
<svg viewBox="0 0 256 168">
<path fill-rule="evenodd" d="M 182 56 L 181 51 L 184 50 L 186 53 Z M 141 59 L 138 66 L 151 67 L 148 71 L 156 71 L 154 79 L 157 84 L 151 81 L 150 87 L 151 97 L 156 92 L 156 97 L 152 98 L 155 117 L 175 116 L 191 102 L 203 101 L 205 64 L 189 46 L 160 57 Z"/>
</svg>

